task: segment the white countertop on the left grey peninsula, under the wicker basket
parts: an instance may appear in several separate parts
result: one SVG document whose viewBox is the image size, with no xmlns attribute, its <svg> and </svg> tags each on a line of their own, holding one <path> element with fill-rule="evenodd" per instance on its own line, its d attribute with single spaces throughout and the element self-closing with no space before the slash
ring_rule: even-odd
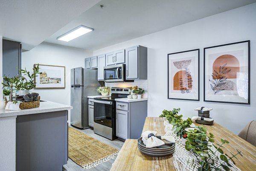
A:
<svg viewBox="0 0 256 171">
<path fill-rule="evenodd" d="M 25 114 L 38 114 L 38 113 L 45 113 L 51 111 L 64 111 L 73 109 L 70 105 L 63 105 L 60 103 L 55 102 L 40 102 L 40 106 L 38 108 L 30 108 L 30 109 L 22 109 L 19 111 L 10 111 L 5 110 L 4 102 L 0 102 L 0 118 L 1 117 L 12 117 L 12 116 L 19 116 Z"/>
</svg>

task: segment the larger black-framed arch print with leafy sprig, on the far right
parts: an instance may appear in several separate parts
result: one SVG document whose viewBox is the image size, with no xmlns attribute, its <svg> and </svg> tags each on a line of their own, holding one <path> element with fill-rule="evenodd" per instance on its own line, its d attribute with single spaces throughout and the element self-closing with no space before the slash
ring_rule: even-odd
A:
<svg viewBox="0 0 256 171">
<path fill-rule="evenodd" d="M 250 104 L 250 40 L 204 48 L 204 101 Z"/>
</svg>

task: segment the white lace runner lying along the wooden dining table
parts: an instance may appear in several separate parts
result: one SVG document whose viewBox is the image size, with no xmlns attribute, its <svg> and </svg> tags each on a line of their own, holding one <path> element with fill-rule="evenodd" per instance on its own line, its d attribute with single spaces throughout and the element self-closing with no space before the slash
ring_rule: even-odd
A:
<svg viewBox="0 0 256 171">
<path fill-rule="evenodd" d="M 173 125 L 169 123 L 166 118 L 164 118 L 164 126 L 165 126 L 165 136 L 173 136 L 175 137 L 175 152 L 173 155 L 173 163 L 177 171 L 197 171 L 200 167 L 200 164 L 197 160 L 197 157 L 195 156 L 195 153 L 193 151 L 187 151 L 185 149 L 185 145 L 182 144 L 181 139 L 174 134 L 172 128 Z M 192 123 L 193 124 L 193 123 Z M 192 125 L 193 126 L 193 125 Z M 211 143 L 212 142 L 208 142 Z M 216 148 L 212 145 L 209 147 L 213 152 L 216 151 Z M 209 156 L 212 155 L 211 151 L 208 151 Z M 219 151 L 216 151 L 214 154 L 216 157 L 220 157 L 221 153 Z M 222 160 L 219 159 L 221 162 Z M 214 160 L 214 166 L 218 167 L 221 163 L 219 160 Z M 226 163 L 223 163 L 226 165 Z M 236 165 L 233 164 L 233 162 L 229 162 L 231 166 L 229 166 L 230 170 L 232 171 L 241 171 Z M 222 167 L 219 167 L 222 171 L 225 171 Z"/>
</svg>

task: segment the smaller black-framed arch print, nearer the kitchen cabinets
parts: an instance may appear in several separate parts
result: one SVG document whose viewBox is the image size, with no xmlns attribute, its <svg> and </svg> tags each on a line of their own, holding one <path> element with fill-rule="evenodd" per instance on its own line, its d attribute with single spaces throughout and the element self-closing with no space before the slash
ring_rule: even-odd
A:
<svg viewBox="0 0 256 171">
<path fill-rule="evenodd" d="M 168 99 L 199 101 L 199 49 L 168 54 Z"/>
</svg>

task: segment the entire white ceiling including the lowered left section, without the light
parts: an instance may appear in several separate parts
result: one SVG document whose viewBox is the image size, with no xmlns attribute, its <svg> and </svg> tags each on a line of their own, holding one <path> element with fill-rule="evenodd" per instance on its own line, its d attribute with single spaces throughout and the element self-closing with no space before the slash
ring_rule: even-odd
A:
<svg viewBox="0 0 256 171">
<path fill-rule="evenodd" d="M 256 0 L 0 0 L 0 36 L 30 50 L 41 42 L 96 50 Z M 95 5 L 96 4 L 96 5 Z M 103 4 L 101 9 L 99 5 Z M 84 25 L 70 42 L 56 37 Z"/>
</svg>

